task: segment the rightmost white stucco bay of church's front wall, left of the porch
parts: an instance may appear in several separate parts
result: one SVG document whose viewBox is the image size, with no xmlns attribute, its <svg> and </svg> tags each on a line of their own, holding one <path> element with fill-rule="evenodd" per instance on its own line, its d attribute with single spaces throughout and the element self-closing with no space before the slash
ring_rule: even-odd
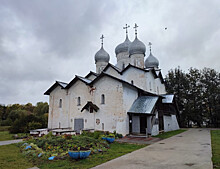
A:
<svg viewBox="0 0 220 169">
<path fill-rule="evenodd" d="M 118 133 L 126 133 L 126 115 L 123 112 L 123 87 L 121 82 L 109 77 L 103 77 L 94 84 L 94 103 L 100 108 L 96 113 L 96 119 L 100 119 L 100 124 L 96 125 L 96 130 L 104 130 Z M 101 95 L 105 95 L 105 104 L 101 104 Z"/>
</svg>

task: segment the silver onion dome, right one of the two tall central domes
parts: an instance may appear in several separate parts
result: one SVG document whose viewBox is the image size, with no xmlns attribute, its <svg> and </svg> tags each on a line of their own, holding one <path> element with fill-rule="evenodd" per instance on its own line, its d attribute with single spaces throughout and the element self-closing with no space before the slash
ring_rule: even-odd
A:
<svg viewBox="0 0 220 169">
<path fill-rule="evenodd" d="M 146 52 L 146 46 L 143 42 L 141 42 L 137 37 L 135 40 L 130 44 L 128 48 L 129 55 L 133 54 L 144 54 Z"/>
</svg>

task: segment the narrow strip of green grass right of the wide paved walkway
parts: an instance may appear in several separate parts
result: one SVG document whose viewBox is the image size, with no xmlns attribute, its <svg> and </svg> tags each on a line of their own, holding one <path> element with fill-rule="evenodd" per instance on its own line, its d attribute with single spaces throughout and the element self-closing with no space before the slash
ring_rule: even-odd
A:
<svg viewBox="0 0 220 169">
<path fill-rule="evenodd" d="M 212 162 L 215 169 L 220 169 L 220 130 L 211 131 Z"/>
</svg>

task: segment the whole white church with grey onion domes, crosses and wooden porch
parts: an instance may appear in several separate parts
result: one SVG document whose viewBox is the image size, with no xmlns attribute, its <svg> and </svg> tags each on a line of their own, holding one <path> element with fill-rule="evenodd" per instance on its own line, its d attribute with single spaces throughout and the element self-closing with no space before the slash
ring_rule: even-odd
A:
<svg viewBox="0 0 220 169">
<path fill-rule="evenodd" d="M 175 96 L 166 94 L 158 59 L 149 43 L 128 37 L 115 48 L 116 65 L 103 46 L 95 54 L 96 72 L 75 76 L 69 83 L 56 81 L 44 94 L 49 95 L 48 129 L 116 131 L 126 134 L 157 135 L 179 129 Z"/>
</svg>

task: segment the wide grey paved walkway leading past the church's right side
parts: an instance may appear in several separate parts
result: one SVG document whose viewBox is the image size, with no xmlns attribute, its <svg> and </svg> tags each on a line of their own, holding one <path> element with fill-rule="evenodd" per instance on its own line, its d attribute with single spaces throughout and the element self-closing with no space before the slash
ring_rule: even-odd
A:
<svg viewBox="0 0 220 169">
<path fill-rule="evenodd" d="M 212 169 L 211 157 L 210 130 L 189 129 L 94 169 Z"/>
</svg>

